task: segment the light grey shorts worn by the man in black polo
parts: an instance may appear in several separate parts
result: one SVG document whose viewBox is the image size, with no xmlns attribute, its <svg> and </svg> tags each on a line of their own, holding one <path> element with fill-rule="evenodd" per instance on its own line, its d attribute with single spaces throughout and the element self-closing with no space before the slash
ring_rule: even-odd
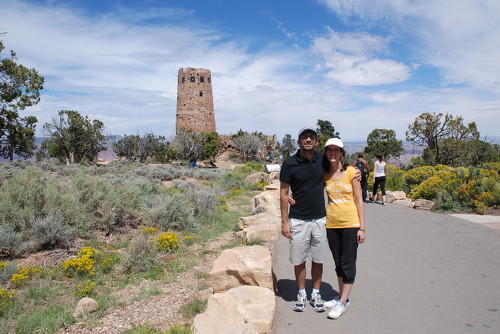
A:
<svg viewBox="0 0 500 334">
<path fill-rule="evenodd" d="M 298 266 L 307 260 L 323 263 L 326 247 L 326 217 L 313 220 L 290 218 L 290 262 Z"/>
</svg>

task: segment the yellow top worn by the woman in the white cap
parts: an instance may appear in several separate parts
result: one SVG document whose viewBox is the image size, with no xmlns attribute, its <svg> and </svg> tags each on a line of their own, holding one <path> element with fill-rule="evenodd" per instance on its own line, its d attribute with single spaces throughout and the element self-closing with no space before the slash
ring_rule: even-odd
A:
<svg viewBox="0 0 500 334">
<path fill-rule="evenodd" d="M 323 175 L 328 206 L 326 207 L 326 228 L 356 228 L 360 226 L 358 210 L 354 203 L 352 179 L 356 169 L 347 167 L 340 180 L 332 180 Z"/>
</svg>

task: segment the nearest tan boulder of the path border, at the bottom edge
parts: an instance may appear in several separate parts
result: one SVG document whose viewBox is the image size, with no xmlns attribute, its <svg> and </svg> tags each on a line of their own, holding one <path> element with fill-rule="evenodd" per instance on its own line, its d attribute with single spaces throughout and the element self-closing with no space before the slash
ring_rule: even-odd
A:
<svg viewBox="0 0 500 334">
<path fill-rule="evenodd" d="M 243 285 L 216 293 L 208 298 L 207 310 L 194 318 L 193 333 L 219 334 L 244 324 L 271 333 L 275 305 L 274 293 L 263 287 Z"/>
</svg>

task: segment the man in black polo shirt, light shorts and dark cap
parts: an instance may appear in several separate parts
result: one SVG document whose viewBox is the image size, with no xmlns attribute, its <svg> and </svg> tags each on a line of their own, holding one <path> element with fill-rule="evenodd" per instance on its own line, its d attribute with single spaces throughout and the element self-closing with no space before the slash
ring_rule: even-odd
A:
<svg viewBox="0 0 500 334">
<path fill-rule="evenodd" d="M 293 309 L 299 312 L 307 304 L 305 263 L 308 258 L 312 260 L 313 282 L 310 303 L 316 312 L 326 309 L 319 291 L 327 240 L 323 153 L 315 151 L 317 143 L 316 130 L 301 129 L 297 140 L 300 149 L 283 162 L 280 172 L 281 234 L 290 239 L 290 262 L 294 265 L 299 290 Z M 290 193 L 295 204 L 288 212 Z"/>
</svg>

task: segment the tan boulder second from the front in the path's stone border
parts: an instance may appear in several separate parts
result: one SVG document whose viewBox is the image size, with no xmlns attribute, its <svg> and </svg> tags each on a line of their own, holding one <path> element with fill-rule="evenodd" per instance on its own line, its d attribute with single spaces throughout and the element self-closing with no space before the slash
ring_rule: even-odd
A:
<svg viewBox="0 0 500 334">
<path fill-rule="evenodd" d="M 214 292 L 241 285 L 273 289 L 271 252 L 264 246 L 241 246 L 224 250 L 210 271 Z"/>
</svg>

